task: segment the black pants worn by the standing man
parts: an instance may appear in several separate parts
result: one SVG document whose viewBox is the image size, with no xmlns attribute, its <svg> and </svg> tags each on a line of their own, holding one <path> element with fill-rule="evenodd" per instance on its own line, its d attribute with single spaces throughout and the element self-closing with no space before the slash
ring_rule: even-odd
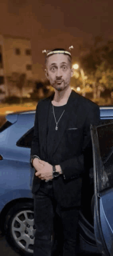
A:
<svg viewBox="0 0 113 256">
<path fill-rule="evenodd" d="M 34 195 L 34 225 L 36 227 L 34 256 L 51 256 L 51 237 L 56 205 L 52 181 L 41 182 L 40 189 Z M 63 230 L 61 236 L 63 256 L 76 256 L 79 209 L 78 207 L 71 209 L 60 207 L 59 210 L 62 227 L 57 233 L 61 236 Z"/>
</svg>

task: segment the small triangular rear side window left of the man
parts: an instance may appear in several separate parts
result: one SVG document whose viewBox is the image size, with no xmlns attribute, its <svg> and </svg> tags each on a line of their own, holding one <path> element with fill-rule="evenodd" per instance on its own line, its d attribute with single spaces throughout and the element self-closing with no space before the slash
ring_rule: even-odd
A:
<svg viewBox="0 0 113 256">
<path fill-rule="evenodd" d="M 24 134 L 17 142 L 16 146 L 31 148 L 32 137 L 34 133 L 34 127 L 32 127 L 26 134 Z"/>
</svg>

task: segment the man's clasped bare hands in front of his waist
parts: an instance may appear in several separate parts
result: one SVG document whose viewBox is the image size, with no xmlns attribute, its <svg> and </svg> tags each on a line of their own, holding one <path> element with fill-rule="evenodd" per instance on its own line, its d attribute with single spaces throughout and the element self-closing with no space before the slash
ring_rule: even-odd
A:
<svg viewBox="0 0 113 256">
<path fill-rule="evenodd" d="M 52 176 L 52 165 L 50 165 L 49 163 L 42 161 L 40 159 L 39 160 L 39 164 L 38 167 L 36 169 L 36 173 L 35 175 L 38 176 L 41 180 L 52 180 L 53 176 Z M 35 167 L 34 167 L 35 168 Z"/>
</svg>

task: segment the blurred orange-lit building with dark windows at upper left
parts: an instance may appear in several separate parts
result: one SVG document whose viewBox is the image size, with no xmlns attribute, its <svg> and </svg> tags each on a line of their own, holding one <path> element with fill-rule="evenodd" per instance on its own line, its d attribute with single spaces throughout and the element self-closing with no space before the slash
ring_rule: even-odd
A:
<svg viewBox="0 0 113 256">
<path fill-rule="evenodd" d="M 5 91 L 4 95 L 20 97 L 20 90 L 16 87 L 16 78 L 11 77 L 21 74 L 26 75 L 26 83 L 23 88 L 25 96 L 33 89 L 30 39 L 0 35 L 0 88 Z"/>
</svg>

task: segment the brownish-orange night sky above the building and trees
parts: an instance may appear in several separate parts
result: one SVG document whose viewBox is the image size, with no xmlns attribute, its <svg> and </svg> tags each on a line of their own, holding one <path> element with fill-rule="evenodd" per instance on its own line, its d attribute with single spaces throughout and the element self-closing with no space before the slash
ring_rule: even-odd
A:
<svg viewBox="0 0 113 256">
<path fill-rule="evenodd" d="M 0 33 L 31 39 L 34 72 L 44 77 L 42 50 L 93 43 L 95 36 L 113 40 L 111 0 L 1 0 Z"/>
</svg>

